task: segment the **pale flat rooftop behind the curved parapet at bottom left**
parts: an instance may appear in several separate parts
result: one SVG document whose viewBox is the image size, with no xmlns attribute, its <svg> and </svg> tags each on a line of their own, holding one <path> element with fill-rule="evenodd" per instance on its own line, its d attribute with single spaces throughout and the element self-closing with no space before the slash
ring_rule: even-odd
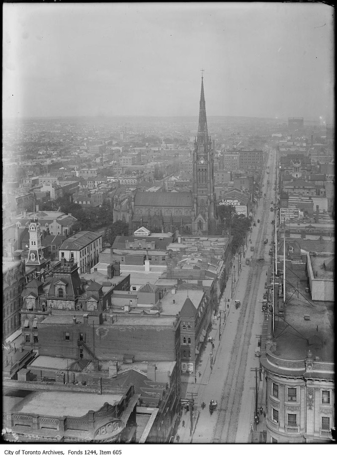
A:
<svg viewBox="0 0 337 455">
<path fill-rule="evenodd" d="M 88 411 L 97 411 L 105 402 L 117 404 L 123 395 L 85 392 L 33 391 L 17 403 L 11 411 L 42 416 L 82 417 Z"/>
</svg>

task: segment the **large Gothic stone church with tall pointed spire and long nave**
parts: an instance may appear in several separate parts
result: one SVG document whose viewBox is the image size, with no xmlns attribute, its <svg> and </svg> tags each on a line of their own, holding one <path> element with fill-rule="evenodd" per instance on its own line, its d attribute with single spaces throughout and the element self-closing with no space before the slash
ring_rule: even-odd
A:
<svg viewBox="0 0 337 455">
<path fill-rule="evenodd" d="M 216 233 L 214 158 L 207 129 L 203 76 L 192 167 L 192 187 L 189 192 L 135 192 L 128 204 L 130 234 L 142 226 L 155 232 L 178 230 L 181 234 L 192 235 Z"/>
</svg>

